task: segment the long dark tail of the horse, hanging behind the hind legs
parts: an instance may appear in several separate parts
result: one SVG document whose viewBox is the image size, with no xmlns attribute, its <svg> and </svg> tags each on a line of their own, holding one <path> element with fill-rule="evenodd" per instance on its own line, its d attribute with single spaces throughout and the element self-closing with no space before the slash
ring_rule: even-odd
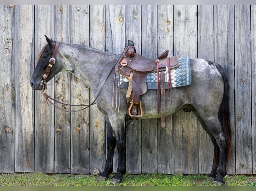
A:
<svg viewBox="0 0 256 191">
<path fill-rule="evenodd" d="M 223 130 L 227 139 L 227 161 L 232 161 L 232 142 L 231 142 L 231 125 L 230 125 L 230 111 L 229 111 L 229 82 L 228 77 L 224 72 L 224 69 L 215 63 L 216 68 L 220 72 L 224 81 L 224 93 L 222 102 L 220 105 L 218 118 L 222 124 Z"/>
</svg>

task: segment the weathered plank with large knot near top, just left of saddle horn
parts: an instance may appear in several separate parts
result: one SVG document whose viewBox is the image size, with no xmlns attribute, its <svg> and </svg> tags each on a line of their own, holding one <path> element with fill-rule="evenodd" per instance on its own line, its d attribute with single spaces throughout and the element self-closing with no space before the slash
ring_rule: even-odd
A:
<svg viewBox="0 0 256 191">
<path fill-rule="evenodd" d="M 106 51 L 119 54 L 125 47 L 125 5 L 106 5 Z M 114 172 L 118 166 L 118 151 L 114 152 Z"/>
</svg>

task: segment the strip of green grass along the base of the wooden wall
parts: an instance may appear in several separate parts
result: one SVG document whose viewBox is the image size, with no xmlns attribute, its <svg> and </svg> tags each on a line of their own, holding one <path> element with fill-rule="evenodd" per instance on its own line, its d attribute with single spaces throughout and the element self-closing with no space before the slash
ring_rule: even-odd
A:
<svg viewBox="0 0 256 191">
<path fill-rule="evenodd" d="M 124 181 L 115 185 L 111 180 L 97 181 L 96 178 L 91 174 L 3 173 L 0 186 L 218 186 L 207 175 L 125 174 Z M 224 180 L 225 186 L 256 186 L 255 175 L 230 175 Z"/>
</svg>

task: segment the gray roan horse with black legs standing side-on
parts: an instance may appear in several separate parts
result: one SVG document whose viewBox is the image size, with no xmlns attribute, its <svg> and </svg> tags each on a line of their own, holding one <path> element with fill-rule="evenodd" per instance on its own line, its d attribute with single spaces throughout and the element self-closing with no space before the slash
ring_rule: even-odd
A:
<svg viewBox="0 0 256 191">
<path fill-rule="evenodd" d="M 108 175 L 113 171 L 114 148 L 117 146 L 118 169 L 112 181 L 121 182 L 126 170 L 124 121 L 128 103 L 125 98 L 127 90 L 121 88 L 119 112 L 112 106 L 112 66 L 116 63 L 117 55 L 82 45 L 52 41 L 48 37 L 46 40 L 48 44 L 38 57 L 37 66 L 31 77 L 31 87 L 34 90 L 42 90 L 42 82 L 48 82 L 61 71 L 72 73 L 91 87 L 94 97 L 97 98 L 97 107 L 106 116 L 107 124 L 107 159 L 104 171 L 98 178 L 109 179 Z M 54 53 L 56 43 L 58 50 Z M 49 68 L 49 60 L 53 54 L 56 61 L 50 62 L 53 66 L 50 71 L 45 72 L 46 68 Z M 172 104 L 170 101 L 165 103 L 165 115 L 171 115 L 181 109 L 195 113 L 214 144 L 214 161 L 209 177 L 217 183 L 224 184 L 226 162 L 232 160 L 228 79 L 220 65 L 203 59 L 191 59 L 190 69 L 191 85 L 172 89 Z M 42 77 L 45 73 L 47 77 Z M 168 94 L 165 95 L 167 100 Z M 156 90 L 148 90 L 146 94 L 141 95 L 141 100 L 142 118 L 161 117 L 161 114 L 157 114 L 155 101 L 152 101 L 156 100 Z"/>
</svg>

